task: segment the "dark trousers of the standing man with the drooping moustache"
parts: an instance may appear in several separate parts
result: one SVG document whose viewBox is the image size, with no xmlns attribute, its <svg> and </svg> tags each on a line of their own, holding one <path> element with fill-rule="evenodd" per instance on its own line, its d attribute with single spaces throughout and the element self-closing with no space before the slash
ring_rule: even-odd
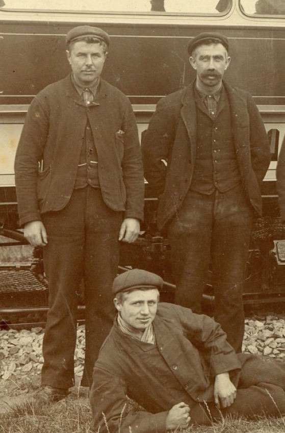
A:
<svg viewBox="0 0 285 433">
<path fill-rule="evenodd" d="M 244 335 L 242 287 L 251 223 L 251 207 L 238 186 L 211 195 L 190 190 L 168 226 L 175 303 L 201 312 L 211 265 L 215 320 L 237 352 L 242 350 Z"/>
</svg>

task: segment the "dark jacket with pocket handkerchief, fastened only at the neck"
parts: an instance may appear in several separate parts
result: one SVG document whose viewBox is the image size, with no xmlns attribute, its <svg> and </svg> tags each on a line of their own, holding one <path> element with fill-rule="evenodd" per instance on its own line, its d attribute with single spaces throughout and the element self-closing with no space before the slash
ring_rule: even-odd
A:
<svg viewBox="0 0 285 433">
<path fill-rule="evenodd" d="M 143 219 L 143 168 L 131 104 L 117 88 L 100 80 L 97 96 L 86 108 L 69 75 L 34 98 L 23 126 L 15 159 L 21 224 L 67 205 L 87 116 L 103 200 L 112 210 L 124 211 L 125 217 Z"/>
</svg>

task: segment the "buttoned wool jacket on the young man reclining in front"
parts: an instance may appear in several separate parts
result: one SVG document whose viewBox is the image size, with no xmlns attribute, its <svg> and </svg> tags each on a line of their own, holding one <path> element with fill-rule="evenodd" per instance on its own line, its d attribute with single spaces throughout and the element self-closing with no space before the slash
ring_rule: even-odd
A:
<svg viewBox="0 0 285 433">
<path fill-rule="evenodd" d="M 210 317 L 159 303 L 153 330 L 154 351 L 152 344 L 123 334 L 115 320 L 93 372 L 90 402 L 95 431 L 99 426 L 105 431 L 108 425 L 110 433 L 164 432 L 174 404 L 185 401 L 191 407 L 213 400 L 217 374 L 229 371 L 231 381 L 238 384 L 238 356 Z M 178 401 L 173 401 L 174 389 Z M 126 395 L 146 411 L 127 412 Z"/>
</svg>

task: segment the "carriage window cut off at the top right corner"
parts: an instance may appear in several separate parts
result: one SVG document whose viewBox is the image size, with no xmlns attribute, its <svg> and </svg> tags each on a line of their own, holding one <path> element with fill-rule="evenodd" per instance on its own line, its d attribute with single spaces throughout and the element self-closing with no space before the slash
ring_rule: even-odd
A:
<svg viewBox="0 0 285 433">
<path fill-rule="evenodd" d="M 248 15 L 285 15 L 285 0 L 241 0 L 240 5 Z"/>
</svg>

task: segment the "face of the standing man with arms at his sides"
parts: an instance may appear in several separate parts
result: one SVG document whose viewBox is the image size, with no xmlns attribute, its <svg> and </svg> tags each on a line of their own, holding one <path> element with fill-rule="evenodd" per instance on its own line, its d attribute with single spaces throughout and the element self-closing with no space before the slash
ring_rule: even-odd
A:
<svg viewBox="0 0 285 433">
<path fill-rule="evenodd" d="M 85 41 L 75 42 L 67 51 L 67 59 L 70 63 L 74 78 L 83 87 L 92 86 L 100 76 L 106 53 L 98 43 Z"/>
</svg>

